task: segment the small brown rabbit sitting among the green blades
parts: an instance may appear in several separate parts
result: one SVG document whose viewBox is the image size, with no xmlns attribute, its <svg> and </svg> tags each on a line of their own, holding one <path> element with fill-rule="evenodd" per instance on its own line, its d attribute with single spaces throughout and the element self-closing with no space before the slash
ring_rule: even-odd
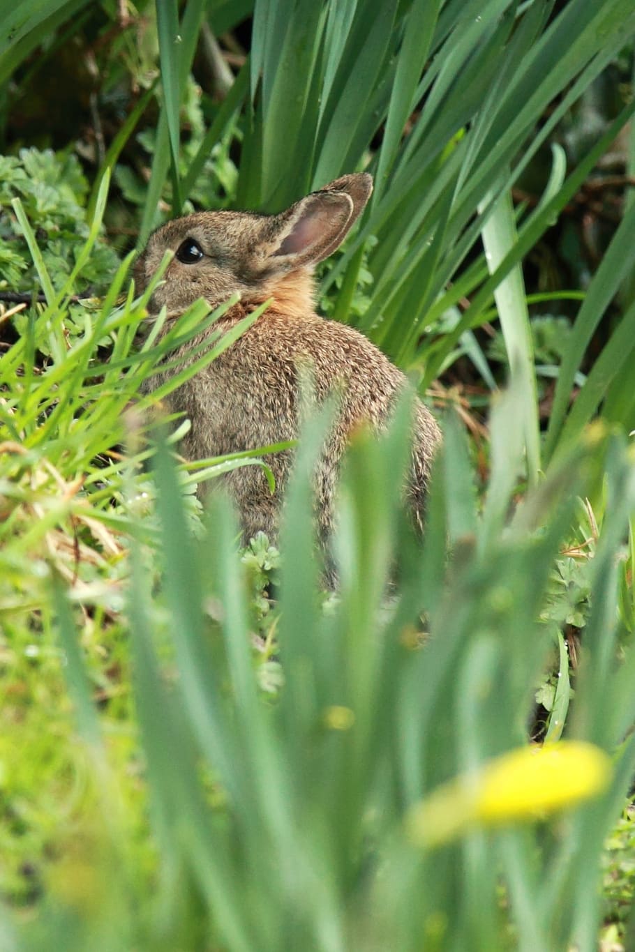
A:
<svg viewBox="0 0 635 952">
<path fill-rule="evenodd" d="M 314 310 L 313 266 L 341 244 L 372 190 L 367 174 L 344 175 L 278 215 L 248 211 L 200 211 L 158 228 L 139 257 L 134 277 L 146 288 L 167 249 L 174 252 L 150 308 L 177 317 L 198 298 L 216 306 L 239 291 L 241 301 L 214 328 L 227 330 L 272 299 L 268 310 L 208 367 L 169 396 L 191 428 L 183 442 L 189 459 L 219 456 L 296 439 L 302 368 L 312 377 L 318 403 L 339 393 L 338 411 L 315 478 L 320 539 L 333 524 L 338 469 L 352 430 L 368 423 L 387 426 L 404 374 L 363 334 L 327 321 Z M 187 349 L 184 348 L 187 360 Z M 151 378 L 158 387 L 165 377 Z M 416 402 L 412 473 L 408 497 L 421 526 L 430 462 L 440 431 Z M 276 481 L 271 494 L 258 466 L 225 477 L 247 541 L 259 529 L 277 537 L 281 499 L 293 460 L 290 450 L 267 458 Z"/>
</svg>

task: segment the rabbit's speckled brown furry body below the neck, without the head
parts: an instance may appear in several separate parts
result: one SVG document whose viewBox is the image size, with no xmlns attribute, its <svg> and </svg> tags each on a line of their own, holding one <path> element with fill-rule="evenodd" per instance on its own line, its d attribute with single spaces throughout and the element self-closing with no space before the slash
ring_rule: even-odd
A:
<svg viewBox="0 0 635 952">
<path fill-rule="evenodd" d="M 215 327 L 228 330 L 243 316 L 238 310 Z M 303 376 L 310 385 L 301 397 Z M 405 375 L 354 328 L 315 314 L 289 319 L 268 311 L 205 370 L 176 390 L 169 403 L 191 420 L 185 455 L 201 459 L 295 440 L 301 400 L 306 410 L 308 400 L 322 404 L 335 396 L 335 420 L 315 478 L 316 513 L 320 534 L 326 537 L 339 465 L 351 432 L 362 424 L 385 428 L 404 387 Z M 419 401 L 415 413 L 413 479 L 423 487 L 439 430 Z M 236 469 L 226 476 L 247 539 L 259 529 L 275 538 L 292 452 L 272 453 L 264 459 L 276 480 L 273 496 L 260 467 Z"/>
</svg>

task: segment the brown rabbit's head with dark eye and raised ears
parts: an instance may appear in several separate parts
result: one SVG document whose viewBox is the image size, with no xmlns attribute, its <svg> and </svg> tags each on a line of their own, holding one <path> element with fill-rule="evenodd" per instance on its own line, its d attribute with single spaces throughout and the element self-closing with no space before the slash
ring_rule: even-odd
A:
<svg viewBox="0 0 635 952">
<path fill-rule="evenodd" d="M 273 297 L 289 313 L 312 307 L 312 266 L 327 258 L 366 206 L 372 179 L 344 175 L 278 215 L 198 211 L 150 235 L 138 258 L 138 291 L 149 284 L 167 250 L 174 253 L 151 300 L 177 315 L 198 298 L 212 306 L 238 291 L 246 305 Z"/>
</svg>

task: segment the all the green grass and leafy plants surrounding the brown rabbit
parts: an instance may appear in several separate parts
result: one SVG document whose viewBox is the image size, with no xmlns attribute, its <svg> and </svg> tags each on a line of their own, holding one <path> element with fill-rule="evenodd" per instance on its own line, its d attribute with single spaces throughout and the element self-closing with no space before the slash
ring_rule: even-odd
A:
<svg viewBox="0 0 635 952">
<path fill-rule="evenodd" d="M 32 50 L 81 47 L 81 6 L 6 11 L 5 139 L 10 74 L 29 90 Z M 526 288 L 521 266 L 632 97 L 577 164 L 551 150 L 533 206 L 511 196 L 597 77 L 632 60 L 631 6 L 142 2 L 139 26 L 106 3 L 99 102 L 123 84 L 129 113 L 90 186 L 68 151 L 0 160 L 0 291 L 29 297 L 0 351 L 0 947 L 629 947 L 632 204 L 584 289 Z M 240 59 L 246 16 L 227 97 L 199 100 L 201 25 L 233 31 Z M 434 391 L 448 408 L 423 543 L 397 490 L 407 407 L 351 447 L 333 594 L 303 475 L 327 415 L 298 446 L 279 550 L 239 551 L 228 506 L 204 512 L 194 487 L 262 466 L 259 447 L 185 463 L 188 421 L 157 408 L 230 346 L 223 308 L 135 344 L 152 288 L 135 298 L 127 250 L 192 203 L 284 208 L 358 168 L 375 192 L 320 272 L 329 314 L 424 394 L 440 374 L 479 385 L 471 405 Z M 122 220 L 117 257 L 103 222 Z M 140 397 L 206 326 L 193 363 Z M 531 735 L 571 758 L 558 809 L 535 809 L 550 775 Z"/>
</svg>

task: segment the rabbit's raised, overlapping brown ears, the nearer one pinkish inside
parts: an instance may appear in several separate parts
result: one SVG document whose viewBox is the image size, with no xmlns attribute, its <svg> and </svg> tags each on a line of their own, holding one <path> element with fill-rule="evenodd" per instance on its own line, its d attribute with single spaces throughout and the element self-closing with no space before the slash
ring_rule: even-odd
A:
<svg viewBox="0 0 635 952">
<path fill-rule="evenodd" d="M 268 264 L 281 270 L 316 265 L 345 239 L 372 190 L 367 174 L 344 175 L 277 217 Z"/>
</svg>

